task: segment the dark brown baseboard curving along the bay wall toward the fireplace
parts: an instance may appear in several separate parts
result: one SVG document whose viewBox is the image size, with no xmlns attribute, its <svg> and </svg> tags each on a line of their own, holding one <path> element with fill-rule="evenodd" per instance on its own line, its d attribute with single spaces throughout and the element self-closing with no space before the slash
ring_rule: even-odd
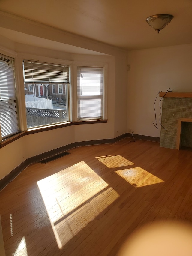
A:
<svg viewBox="0 0 192 256">
<path fill-rule="evenodd" d="M 59 154 L 61 152 L 67 151 L 67 150 L 75 148 L 75 147 L 115 143 L 119 140 L 125 139 L 126 137 L 132 138 L 132 134 L 125 133 L 125 134 L 122 134 L 113 139 L 88 140 L 88 141 L 74 142 L 74 143 L 68 144 L 66 146 L 42 153 L 40 155 L 32 156 L 32 157 L 26 159 L 21 164 L 19 164 L 19 166 L 17 166 L 14 170 L 12 170 L 9 174 L 7 174 L 7 176 L 5 176 L 3 179 L 0 180 L 0 191 L 7 184 L 9 184 L 9 182 L 11 182 L 14 178 L 16 178 L 16 176 L 18 176 L 19 173 L 21 173 L 29 164 L 39 162 L 45 158 L 51 157 L 53 155 Z M 138 139 L 138 140 L 149 140 L 149 141 L 154 141 L 154 142 L 160 142 L 160 138 L 158 138 L 158 137 L 150 137 L 150 136 L 144 136 L 144 135 L 139 135 L 139 134 L 134 134 L 134 138 Z"/>
</svg>

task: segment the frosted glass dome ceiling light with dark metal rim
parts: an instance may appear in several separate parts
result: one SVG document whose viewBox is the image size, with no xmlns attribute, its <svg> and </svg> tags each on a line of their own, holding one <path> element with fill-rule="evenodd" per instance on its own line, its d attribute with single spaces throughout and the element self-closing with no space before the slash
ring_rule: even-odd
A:
<svg viewBox="0 0 192 256">
<path fill-rule="evenodd" d="M 171 14 L 155 14 L 146 18 L 146 22 L 159 33 L 172 19 L 173 15 Z"/>
</svg>

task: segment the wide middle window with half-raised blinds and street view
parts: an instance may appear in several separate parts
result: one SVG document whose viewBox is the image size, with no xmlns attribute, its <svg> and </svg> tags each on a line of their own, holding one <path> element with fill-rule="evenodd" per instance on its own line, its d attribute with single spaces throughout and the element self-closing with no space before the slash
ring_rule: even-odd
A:
<svg viewBox="0 0 192 256">
<path fill-rule="evenodd" d="M 23 69 L 27 127 L 69 121 L 69 66 L 24 61 Z"/>
</svg>

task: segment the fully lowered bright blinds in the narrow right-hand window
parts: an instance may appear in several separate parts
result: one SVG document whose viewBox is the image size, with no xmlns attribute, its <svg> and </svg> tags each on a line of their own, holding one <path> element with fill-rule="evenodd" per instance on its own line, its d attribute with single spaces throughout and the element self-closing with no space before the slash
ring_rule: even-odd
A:
<svg viewBox="0 0 192 256">
<path fill-rule="evenodd" d="M 77 67 L 78 120 L 102 119 L 103 70 L 101 67 Z"/>
</svg>

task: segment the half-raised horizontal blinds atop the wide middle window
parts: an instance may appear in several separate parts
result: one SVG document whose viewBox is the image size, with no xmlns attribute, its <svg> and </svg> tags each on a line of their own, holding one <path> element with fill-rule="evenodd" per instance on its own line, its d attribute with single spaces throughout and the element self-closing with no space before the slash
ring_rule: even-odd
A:
<svg viewBox="0 0 192 256">
<path fill-rule="evenodd" d="M 69 83 L 69 66 L 24 61 L 25 83 Z"/>
</svg>

